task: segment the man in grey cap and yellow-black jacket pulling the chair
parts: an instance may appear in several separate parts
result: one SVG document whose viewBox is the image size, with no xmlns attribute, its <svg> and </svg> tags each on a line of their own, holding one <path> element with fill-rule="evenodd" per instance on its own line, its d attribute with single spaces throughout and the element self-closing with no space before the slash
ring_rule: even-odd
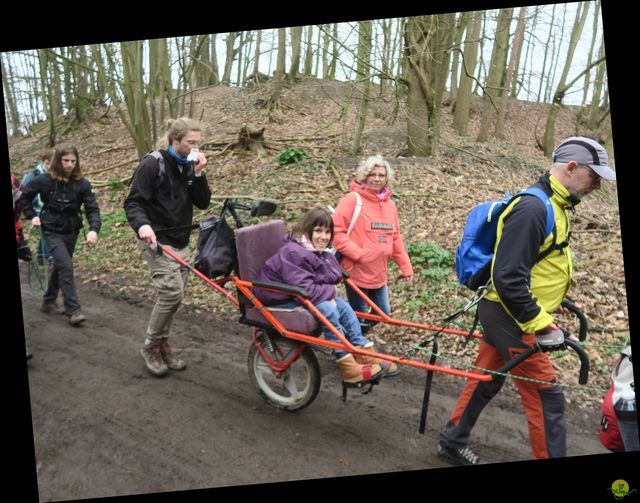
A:
<svg viewBox="0 0 640 503">
<path fill-rule="evenodd" d="M 566 455 L 564 394 L 546 349 L 562 347 L 564 333 L 552 313 L 571 286 L 573 264 L 568 246 L 568 211 L 615 180 L 602 145 L 585 137 L 564 140 L 554 163 L 534 187 L 543 190 L 553 208 L 554 229 L 546 235 L 547 208 L 537 197 L 514 200 L 498 220 L 491 291 L 478 304 L 484 337 L 475 365 L 496 370 L 530 347 L 542 348 L 511 370 L 529 425 L 535 459 Z M 469 381 L 440 433 L 438 455 L 458 465 L 483 461 L 468 447 L 471 430 L 484 407 L 500 391 L 503 376 Z"/>
</svg>

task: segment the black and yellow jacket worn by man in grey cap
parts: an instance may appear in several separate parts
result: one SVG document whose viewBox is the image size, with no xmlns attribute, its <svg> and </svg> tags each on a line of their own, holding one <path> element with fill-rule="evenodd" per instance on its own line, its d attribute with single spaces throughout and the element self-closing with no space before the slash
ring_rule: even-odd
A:
<svg viewBox="0 0 640 503">
<path fill-rule="evenodd" d="M 534 187 L 550 196 L 555 217 L 554 249 L 538 261 L 540 253 L 554 244 L 546 232 L 547 210 L 537 197 L 515 199 L 500 215 L 491 264 L 493 289 L 486 299 L 499 302 L 524 333 L 533 333 L 553 323 L 556 311 L 569 287 L 573 264 L 567 211 L 577 204 L 569 191 L 550 173 Z"/>
</svg>

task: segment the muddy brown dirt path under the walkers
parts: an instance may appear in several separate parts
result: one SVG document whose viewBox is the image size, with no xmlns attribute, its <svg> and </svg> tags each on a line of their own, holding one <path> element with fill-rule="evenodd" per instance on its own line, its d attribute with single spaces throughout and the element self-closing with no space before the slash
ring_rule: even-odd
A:
<svg viewBox="0 0 640 503">
<path fill-rule="evenodd" d="M 150 300 L 78 289 L 88 321 L 74 328 L 40 313 L 39 294 L 22 285 L 41 501 L 447 466 L 435 455 L 437 432 L 462 380 L 436 375 L 420 435 L 423 372 L 404 367 L 370 395 L 351 392 L 345 406 L 335 365 L 317 352 L 317 399 L 281 412 L 252 388 L 249 329 L 235 319 L 179 311 L 172 341 L 188 368 L 157 379 L 138 355 Z M 212 301 L 226 302 L 214 293 Z M 505 387 L 474 431 L 474 448 L 493 462 L 529 459 L 513 389 Z M 569 415 L 570 456 L 605 452 L 598 419 Z"/>
</svg>

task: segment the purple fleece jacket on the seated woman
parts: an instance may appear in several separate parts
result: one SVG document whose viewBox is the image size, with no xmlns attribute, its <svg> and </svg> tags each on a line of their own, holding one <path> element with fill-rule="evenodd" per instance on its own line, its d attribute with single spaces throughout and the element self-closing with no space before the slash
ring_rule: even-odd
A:
<svg viewBox="0 0 640 503">
<path fill-rule="evenodd" d="M 342 269 L 332 253 L 307 250 L 297 241 L 285 236 L 284 244 L 275 255 L 267 259 L 256 280 L 304 288 L 309 293 L 309 300 L 316 305 L 336 296 L 333 285 L 341 278 Z M 255 292 L 261 301 L 268 303 L 291 299 L 289 295 L 261 288 L 256 288 Z"/>
</svg>

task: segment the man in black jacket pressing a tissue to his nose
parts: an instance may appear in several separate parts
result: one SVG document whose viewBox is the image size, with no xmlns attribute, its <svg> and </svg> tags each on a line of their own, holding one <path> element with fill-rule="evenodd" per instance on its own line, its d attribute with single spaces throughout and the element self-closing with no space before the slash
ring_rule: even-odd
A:
<svg viewBox="0 0 640 503">
<path fill-rule="evenodd" d="M 140 350 L 149 372 L 162 376 L 168 369 L 183 370 L 185 362 L 168 343 L 173 316 L 182 303 L 188 271 L 170 257 L 158 254 L 158 244 L 189 259 L 193 206 L 209 206 L 211 190 L 203 168 L 205 156 L 197 150 L 200 125 L 190 118 L 173 121 L 163 138 L 166 150 L 140 162 L 124 202 L 138 248 L 149 264 L 158 297 Z M 162 156 L 162 158 L 158 157 Z"/>
</svg>

